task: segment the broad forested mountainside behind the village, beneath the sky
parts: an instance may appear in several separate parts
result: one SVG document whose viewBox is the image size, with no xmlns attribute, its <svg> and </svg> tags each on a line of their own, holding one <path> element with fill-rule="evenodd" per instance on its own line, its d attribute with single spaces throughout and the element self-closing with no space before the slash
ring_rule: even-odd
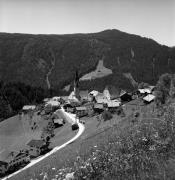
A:
<svg viewBox="0 0 175 180">
<path fill-rule="evenodd" d="M 99 60 L 112 70 L 103 78 L 82 83 L 102 88 L 113 84 L 132 88 L 136 82 L 155 83 L 162 73 L 175 72 L 175 50 L 154 40 L 118 30 L 92 34 L 28 35 L 0 33 L 0 80 L 20 81 L 44 88 L 63 88 L 95 70 Z"/>
</svg>

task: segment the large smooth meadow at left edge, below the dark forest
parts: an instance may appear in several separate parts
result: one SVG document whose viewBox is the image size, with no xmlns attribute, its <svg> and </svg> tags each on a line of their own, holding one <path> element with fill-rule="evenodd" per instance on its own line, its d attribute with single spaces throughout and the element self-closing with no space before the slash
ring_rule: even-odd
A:
<svg viewBox="0 0 175 180">
<path fill-rule="evenodd" d="M 31 129 L 30 122 L 25 116 L 11 117 L 0 123 L 0 157 L 6 151 L 20 150 L 25 148 L 25 144 L 32 138 L 38 139 L 41 134 L 41 127 L 36 130 Z"/>
</svg>

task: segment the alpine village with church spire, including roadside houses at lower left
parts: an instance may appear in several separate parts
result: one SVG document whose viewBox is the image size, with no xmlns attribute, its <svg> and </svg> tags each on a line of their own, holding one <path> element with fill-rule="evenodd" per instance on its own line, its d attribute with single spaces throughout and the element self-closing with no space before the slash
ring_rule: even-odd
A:
<svg viewBox="0 0 175 180">
<path fill-rule="evenodd" d="M 19 113 L 19 118 L 25 118 L 30 124 L 31 131 L 40 128 L 40 121 L 44 121 L 40 137 L 26 142 L 25 149 L 11 151 L 0 159 L 0 175 L 4 176 L 24 167 L 32 159 L 49 152 L 51 139 L 55 136 L 54 130 L 67 123 L 71 123 L 71 131 L 76 131 L 77 122 L 86 124 L 83 117 L 96 117 L 99 122 L 110 120 L 113 114 L 125 116 L 123 108 L 126 103 L 141 99 L 143 105 L 155 99 L 154 86 L 137 89 L 134 92 L 110 90 L 108 87 L 103 92 L 97 90 L 80 90 L 79 80 L 75 78 L 74 90 L 69 96 L 55 96 L 45 98 L 40 105 L 25 105 Z M 61 110 L 75 114 L 76 121 L 66 119 Z M 26 118 L 27 117 L 27 118 Z M 40 117 L 40 120 L 36 120 Z M 44 119 L 44 120 L 43 120 Z"/>
</svg>

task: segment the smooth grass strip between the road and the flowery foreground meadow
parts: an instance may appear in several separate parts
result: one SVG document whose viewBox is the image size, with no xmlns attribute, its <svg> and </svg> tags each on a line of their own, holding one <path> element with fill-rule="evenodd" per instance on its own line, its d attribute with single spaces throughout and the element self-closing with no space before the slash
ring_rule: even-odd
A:
<svg viewBox="0 0 175 180">
<path fill-rule="evenodd" d="M 147 112 L 147 114 L 145 113 L 145 117 L 150 117 L 151 106 L 152 105 L 147 107 L 142 106 L 141 111 Z M 100 146 L 100 144 L 104 144 L 105 142 L 107 143 L 109 141 L 108 138 L 112 134 L 117 136 L 117 134 L 120 134 L 122 131 L 127 131 L 131 123 L 130 116 L 133 109 L 138 110 L 138 107 L 140 106 L 138 106 L 138 102 L 136 101 L 128 103 L 125 106 L 127 112 L 126 118 L 121 119 L 119 116 L 115 115 L 111 121 L 102 122 L 101 124 L 99 124 L 95 118 L 85 118 L 85 132 L 76 142 L 11 179 L 43 179 L 45 172 L 48 174 L 49 179 L 54 178 L 55 175 L 60 173 L 59 169 L 73 166 L 74 162 L 77 160 L 77 156 L 86 159 L 94 150 L 94 146 Z"/>
</svg>

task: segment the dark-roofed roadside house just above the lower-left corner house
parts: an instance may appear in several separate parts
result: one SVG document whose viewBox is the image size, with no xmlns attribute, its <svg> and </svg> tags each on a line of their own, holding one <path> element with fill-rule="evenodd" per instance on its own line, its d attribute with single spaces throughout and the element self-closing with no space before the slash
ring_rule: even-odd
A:
<svg viewBox="0 0 175 180">
<path fill-rule="evenodd" d="M 30 156 L 37 157 L 44 152 L 48 151 L 49 144 L 43 140 L 35 140 L 32 139 L 30 142 L 27 143 L 29 147 L 29 154 Z"/>
</svg>

